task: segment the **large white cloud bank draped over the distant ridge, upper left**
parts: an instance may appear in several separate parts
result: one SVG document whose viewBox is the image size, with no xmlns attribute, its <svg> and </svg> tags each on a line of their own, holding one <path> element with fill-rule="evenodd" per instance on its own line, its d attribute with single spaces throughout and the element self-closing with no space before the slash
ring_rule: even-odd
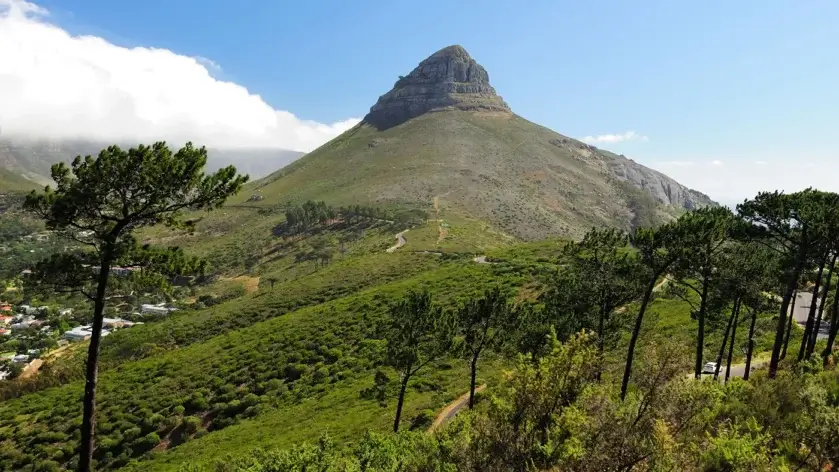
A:
<svg viewBox="0 0 839 472">
<path fill-rule="evenodd" d="M 220 68 L 166 49 L 72 36 L 47 11 L 0 0 L 0 127 L 4 135 L 309 151 L 355 125 L 301 120 L 215 79 Z"/>
</svg>

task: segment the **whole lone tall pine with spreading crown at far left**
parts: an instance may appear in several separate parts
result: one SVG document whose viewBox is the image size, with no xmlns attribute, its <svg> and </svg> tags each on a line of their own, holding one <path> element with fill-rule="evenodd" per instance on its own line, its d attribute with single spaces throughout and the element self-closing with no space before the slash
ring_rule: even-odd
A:
<svg viewBox="0 0 839 472">
<path fill-rule="evenodd" d="M 202 271 L 203 264 L 179 248 L 141 246 L 134 232 L 160 223 L 192 228 L 193 223 L 182 218 L 183 210 L 218 208 L 248 180 L 237 176 L 232 166 L 206 175 L 206 163 L 207 150 L 195 149 L 192 143 L 177 153 L 172 153 L 163 142 L 128 151 L 111 146 L 96 159 L 77 156 L 70 167 L 63 162 L 55 164 L 55 190 L 33 190 L 26 198 L 25 208 L 41 217 L 47 229 L 80 245 L 79 249 L 54 254 L 39 263 L 33 280 L 59 290 L 78 291 L 94 306 L 81 427 L 81 471 L 91 470 L 93 461 L 94 387 L 102 319 L 110 296 L 110 270 L 116 264 L 141 268 L 131 282 L 145 286 L 164 286 L 164 275 Z M 156 435 L 147 435 L 132 446 L 141 451 L 150 449 L 155 438 Z"/>
</svg>

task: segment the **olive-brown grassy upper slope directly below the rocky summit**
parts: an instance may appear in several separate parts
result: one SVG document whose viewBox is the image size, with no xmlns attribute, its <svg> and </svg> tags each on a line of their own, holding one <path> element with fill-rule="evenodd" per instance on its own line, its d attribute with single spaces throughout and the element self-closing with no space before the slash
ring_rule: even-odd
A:
<svg viewBox="0 0 839 472">
<path fill-rule="evenodd" d="M 430 208 L 483 220 L 524 239 L 577 236 L 636 218 L 611 163 L 624 160 L 509 113 L 433 112 L 378 131 L 360 124 L 240 195 L 256 206 Z M 657 203 L 644 208 L 656 217 Z"/>
</svg>

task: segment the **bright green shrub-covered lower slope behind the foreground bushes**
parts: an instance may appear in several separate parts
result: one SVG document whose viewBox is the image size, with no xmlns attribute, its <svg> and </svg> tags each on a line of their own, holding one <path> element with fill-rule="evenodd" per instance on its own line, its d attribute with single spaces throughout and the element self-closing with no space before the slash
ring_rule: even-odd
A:
<svg viewBox="0 0 839 472">
<path fill-rule="evenodd" d="M 426 288 L 452 308 L 495 284 L 519 302 L 533 300 L 556 270 L 563 243 L 495 249 L 488 253 L 495 264 L 475 263 L 469 255 L 403 251 L 407 244 L 392 254 L 370 249 L 300 271 L 273 290 L 261 282 L 256 293 L 105 338 L 96 453 L 102 470 L 134 460 L 139 462 L 130 470 L 176 470 L 258 446 L 313 440 L 325 430 L 339 441 L 367 429 L 386 431 L 393 402 L 382 407 L 362 392 L 383 369 L 382 328 L 390 303 L 409 288 Z M 663 336 L 689 344 L 692 325 L 685 302 L 661 300 L 647 319 L 643 343 Z M 719 333 L 706 339 L 713 349 Z M 72 379 L 79 378 L 82 351 L 60 364 L 69 383 L 42 385 L 0 404 L 0 470 L 33 462 L 72 465 L 82 392 Z M 622 355 L 623 346 L 610 354 L 615 366 Z M 505 366 L 488 360 L 480 380 L 492 385 Z M 465 363 L 457 359 L 417 377 L 406 428 L 467 385 Z"/>
</svg>

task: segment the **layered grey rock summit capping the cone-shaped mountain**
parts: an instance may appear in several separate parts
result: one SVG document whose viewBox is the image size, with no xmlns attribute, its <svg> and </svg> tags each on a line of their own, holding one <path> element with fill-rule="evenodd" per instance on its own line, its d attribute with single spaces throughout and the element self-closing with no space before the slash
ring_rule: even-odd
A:
<svg viewBox="0 0 839 472">
<path fill-rule="evenodd" d="M 364 121 L 384 130 L 429 111 L 451 109 L 512 113 L 489 84 L 486 69 L 461 46 L 435 52 L 400 77 Z"/>
</svg>

